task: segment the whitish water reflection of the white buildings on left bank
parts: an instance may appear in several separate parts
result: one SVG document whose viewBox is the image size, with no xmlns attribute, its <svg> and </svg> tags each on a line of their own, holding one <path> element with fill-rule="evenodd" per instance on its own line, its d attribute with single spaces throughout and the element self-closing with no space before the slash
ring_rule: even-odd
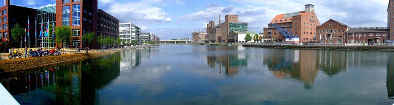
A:
<svg viewBox="0 0 394 105">
<path fill-rule="evenodd" d="M 156 47 L 156 48 L 155 48 Z M 141 64 L 141 60 L 151 58 L 151 53 L 159 52 L 158 46 L 152 46 L 151 48 L 144 49 L 130 49 L 120 52 L 121 63 L 120 67 L 122 71 L 131 71 L 135 67 Z"/>
</svg>

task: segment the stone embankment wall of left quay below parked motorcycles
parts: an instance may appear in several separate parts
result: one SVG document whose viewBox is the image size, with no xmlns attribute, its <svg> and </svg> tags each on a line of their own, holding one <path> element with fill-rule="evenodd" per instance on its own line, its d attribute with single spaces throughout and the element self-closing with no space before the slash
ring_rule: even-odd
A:
<svg viewBox="0 0 394 105">
<path fill-rule="evenodd" d="M 86 50 L 81 50 L 81 52 L 77 52 L 76 50 L 63 50 L 64 54 L 60 56 L 47 56 L 47 57 L 38 57 L 38 58 L 17 58 L 17 59 L 4 59 L 0 61 L 0 73 L 4 72 L 16 72 L 29 70 L 38 67 L 51 66 L 60 63 L 67 63 L 73 61 L 86 60 L 91 58 L 101 57 L 107 54 L 112 54 L 115 52 L 123 51 L 125 49 L 139 49 L 145 48 L 153 45 L 144 45 L 144 46 L 133 46 L 127 48 L 110 48 L 110 49 L 92 49 L 89 50 L 89 53 L 86 53 Z"/>
</svg>

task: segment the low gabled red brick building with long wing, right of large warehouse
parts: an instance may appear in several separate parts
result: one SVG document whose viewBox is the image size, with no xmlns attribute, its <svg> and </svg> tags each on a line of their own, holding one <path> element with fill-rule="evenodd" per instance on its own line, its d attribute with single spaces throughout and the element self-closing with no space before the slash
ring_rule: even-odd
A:
<svg viewBox="0 0 394 105">
<path fill-rule="evenodd" d="M 377 45 L 390 39 L 390 29 L 388 27 L 350 28 L 342 22 L 330 19 L 316 28 L 318 31 L 318 35 L 316 35 L 317 43 Z"/>
</svg>

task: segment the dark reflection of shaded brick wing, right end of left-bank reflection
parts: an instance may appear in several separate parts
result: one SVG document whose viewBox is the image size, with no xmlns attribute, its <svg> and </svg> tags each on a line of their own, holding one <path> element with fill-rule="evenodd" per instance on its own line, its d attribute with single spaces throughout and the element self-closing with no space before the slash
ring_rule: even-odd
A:
<svg viewBox="0 0 394 105">
<path fill-rule="evenodd" d="M 96 100 L 97 90 L 109 84 L 120 74 L 119 53 L 98 59 L 87 60 L 89 65 L 83 65 L 82 70 L 82 104 L 98 104 Z"/>
</svg>

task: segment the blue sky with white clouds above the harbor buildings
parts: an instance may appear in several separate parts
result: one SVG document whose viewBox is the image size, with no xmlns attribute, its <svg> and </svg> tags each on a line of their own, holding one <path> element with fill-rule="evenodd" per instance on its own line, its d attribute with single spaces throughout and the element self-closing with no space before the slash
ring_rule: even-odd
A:
<svg viewBox="0 0 394 105">
<path fill-rule="evenodd" d="M 41 8 L 55 1 L 12 0 L 11 4 Z M 99 9 L 163 40 L 191 38 L 192 30 L 205 31 L 206 23 L 218 22 L 219 14 L 222 22 L 227 14 L 239 15 L 239 21 L 249 23 L 249 31 L 263 32 L 275 15 L 302 11 L 309 3 L 315 5 L 320 23 L 333 19 L 351 27 L 387 26 L 389 0 L 99 0 Z"/>
</svg>

